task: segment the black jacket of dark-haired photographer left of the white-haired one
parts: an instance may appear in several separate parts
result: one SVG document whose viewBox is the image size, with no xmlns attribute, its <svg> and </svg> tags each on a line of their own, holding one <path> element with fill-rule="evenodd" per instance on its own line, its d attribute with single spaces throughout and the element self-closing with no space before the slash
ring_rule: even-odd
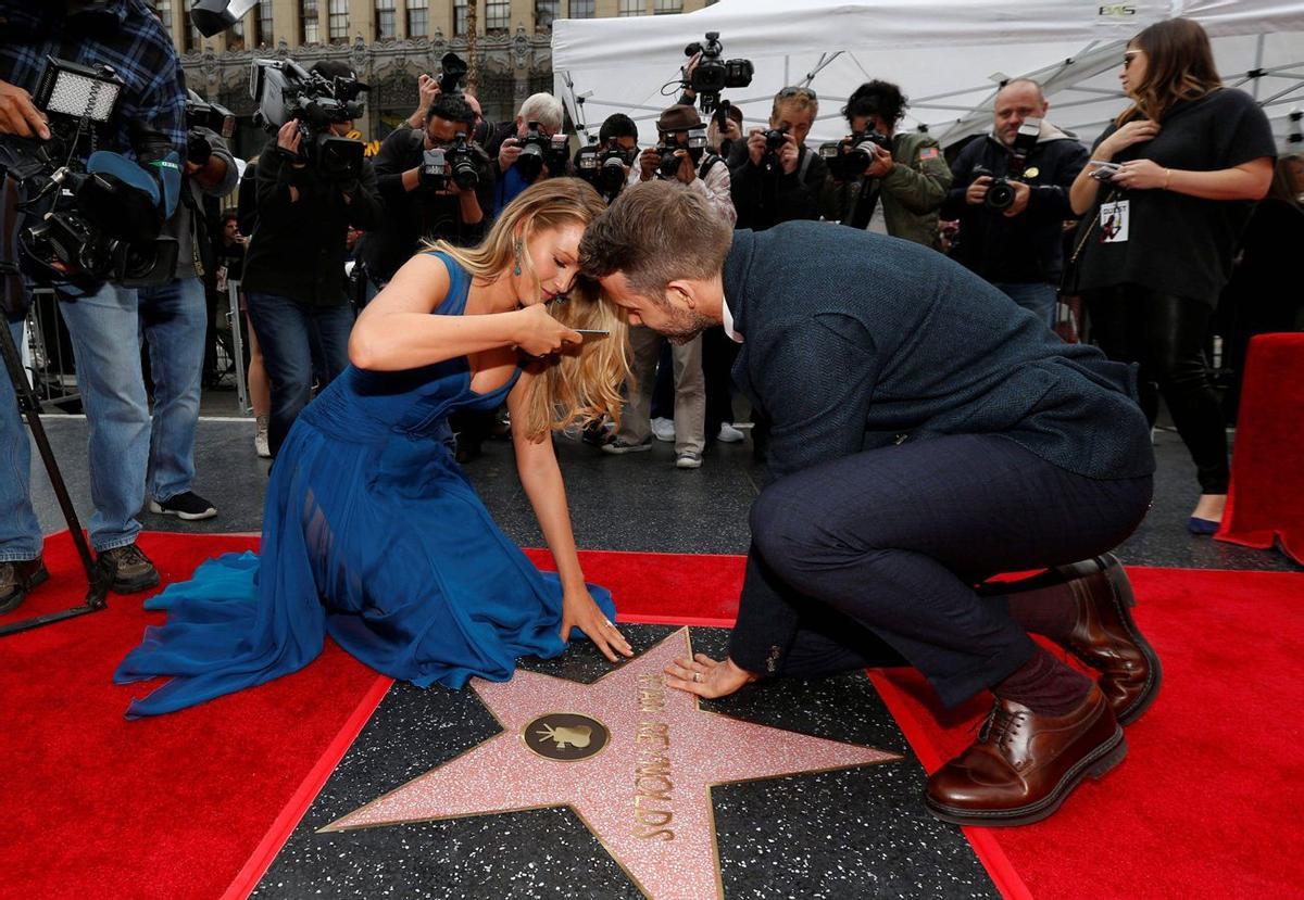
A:
<svg viewBox="0 0 1304 900">
<path fill-rule="evenodd" d="M 430 194 L 417 188 L 403 189 L 403 173 L 421 164 L 425 132 L 399 128 L 390 133 L 376 155 L 376 184 L 385 203 L 379 228 L 363 237 L 361 258 L 373 279 L 387 281 L 417 251 L 424 240 L 442 238 L 455 246 L 479 244 L 493 218 L 493 167 L 484 150 L 471 145 L 477 155 L 480 185 L 476 197 L 484 218 L 475 224 L 462 221 L 462 203 L 451 194 Z"/>
</svg>

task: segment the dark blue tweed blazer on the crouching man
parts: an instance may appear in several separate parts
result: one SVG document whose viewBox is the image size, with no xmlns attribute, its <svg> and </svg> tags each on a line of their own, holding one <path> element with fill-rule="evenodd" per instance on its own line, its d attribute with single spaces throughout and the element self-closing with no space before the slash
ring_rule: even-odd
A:
<svg viewBox="0 0 1304 900">
<path fill-rule="evenodd" d="M 1090 478 L 1154 471 L 1134 369 L 1065 344 L 941 254 L 853 228 L 734 232 L 734 380 L 775 477 L 866 449 L 994 434 Z"/>
</svg>

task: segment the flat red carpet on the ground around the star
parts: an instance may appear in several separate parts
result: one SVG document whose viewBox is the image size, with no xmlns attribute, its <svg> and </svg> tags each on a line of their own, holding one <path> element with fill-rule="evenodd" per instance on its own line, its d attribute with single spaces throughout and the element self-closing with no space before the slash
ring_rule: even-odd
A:
<svg viewBox="0 0 1304 900">
<path fill-rule="evenodd" d="M 146 534 L 164 578 L 254 538 Z M 546 554 L 533 554 L 546 563 Z M 737 556 L 585 551 L 591 581 L 627 621 L 726 624 Z M 53 584 L 20 610 L 80 599 L 67 535 L 47 542 Z M 1128 729 L 1125 763 L 1052 819 L 970 830 L 1007 896 L 1297 896 L 1304 847 L 1300 677 L 1304 576 L 1132 569 L 1137 617 L 1164 660 L 1159 702 Z M 3 617 L 0 623 L 16 616 Z M 141 598 L 0 640 L 9 710 L 0 896 L 216 897 L 249 883 L 379 702 L 386 679 L 334 645 L 256 690 L 154 720 L 121 718 L 142 685 L 110 675 L 162 613 Z M 983 703 L 940 714 L 917 676 L 875 673 L 926 766 L 969 740 Z M 939 718 L 940 716 L 940 718 Z M 237 878 L 237 874 L 240 878 Z M 233 896 L 243 896 L 237 891 Z"/>
</svg>

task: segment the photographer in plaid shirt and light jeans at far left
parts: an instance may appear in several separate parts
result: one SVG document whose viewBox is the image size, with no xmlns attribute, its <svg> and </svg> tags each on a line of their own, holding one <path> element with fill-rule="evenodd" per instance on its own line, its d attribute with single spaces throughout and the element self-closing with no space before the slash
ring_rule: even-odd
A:
<svg viewBox="0 0 1304 900">
<path fill-rule="evenodd" d="M 119 115 L 99 145 L 145 164 L 185 147 L 185 95 L 171 38 L 141 0 L 14 3 L 0 0 L 0 134 L 48 141 L 51 128 L 31 102 L 47 56 L 82 65 L 111 64 L 123 77 Z M 78 154 L 85 147 L 78 146 Z M 7 259 L 5 262 L 16 262 Z M 72 336 L 77 383 L 89 423 L 91 496 L 89 522 L 96 565 L 117 593 L 158 584 L 158 572 L 136 546 L 134 516 L 145 500 L 149 405 L 141 373 L 137 293 L 106 283 L 76 296 L 59 289 Z M 22 333 L 21 311 L 8 323 Z M 31 455 L 9 379 L 0 379 L 0 612 L 46 580 L 42 533 L 31 507 Z"/>
</svg>

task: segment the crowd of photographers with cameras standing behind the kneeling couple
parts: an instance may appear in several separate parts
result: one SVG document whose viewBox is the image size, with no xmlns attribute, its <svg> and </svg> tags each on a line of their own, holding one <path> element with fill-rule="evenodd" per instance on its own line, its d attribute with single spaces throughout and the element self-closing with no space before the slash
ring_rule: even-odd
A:
<svg viewBox="0 0 1304 900">
<path fill-rule="evenodd" d="M 239 211 L 218 219 L 206 215 L 213 212 L 206 198 L 227 195 L 236 178 L 219 133 L 226 111 L 188 98 L 171 40 L 142 0 L 69 0 L 50 9 L 0 0 L 0 17 L 8 22 L 0 42 L 0 134 L 22 146 L 52 138 L 53 120 L 33 94 L 47 55 L 63 53 L 128 76 L 113 129 L 74 146 L 72 158 L 89 165 L 89 151 L 98 148 L 138 164 L 162 185 L 154 191 L 160 210 L 164 169 L 172 165 L 183 177 L 175 214 L 158 216 L 158 246 L 170 241 L 175 255 L 158 257 L 153 268 L 166 274 L 142 277 L 108 267 L 86 272 L 78 287 L 77 279 L 59 281 L 70 264 L 67 254 L 52 263 L 90 425 L 90 539 L 119 591 L 158 581 L 136 547 L 142 507 L 183 518 L 216 514 L 192 490 L 193 451 L 211 344 L 206 332 L 230 280 L 241 281 L 250 326 L 258 452 L 275 456 L 312 392 L 347 365 L 357 307 L 424 244 L 477 244 L 502 208 L 541 178 L 578 176 L 608 202 L 626 185 L 674 180 L 702 193 L 713 214 L 737 228 L 823 219 L 914 241 L 949 251 L 1048 327 L 1055 323 L 1073 219 L 1068 191 L 1088 154 L 1046 120 L 1047 103 L 1033 81 L 1001 87 L 991 133 L 951 164 L 927 133 L 901 129 L 906 98 L 882 79 L 858 87 L 841 108 L 844 139 L 812 147 L 816 92 L 784 87 L 768 121 L 748 126 L 721 91 L 746 86 L 751 63 L 724 60 L 719 35 L 708 34 L 705 44 L 687 48 L 682 96 L 657 117 L 655 145 L 640 148 L 635 122 L 617 113 L 601 124 L 596 143 L 571 155 L 557 98 L 536 94 L 511 121 L 485 122 L 476 98 L 460 90 L 464 64 L 449 55 L 439 78 L 421 76 L 411 119 L 365 158 L 361 142 L 347 137 L 365 85 L 346 64 L 323 61 L 305 72 L 291 60 L 259 61 L 254 91 L 273 135 L 245 167 Z M 119 175 L 132 181 L 140 172 Z M 943 221 L 958 228 L 948 231 Z M 5 311 L 17 343 L 25 307 L 7 303 Z M 711 442 L 743 440 L 733 425 L 737 344 L 725 328 L 669 345 L 636 327 L 631 344 L 635 380 L 622 422 L 588 429 L 585 442 L 613 455 L 645 451 L 653 439 L 673 442 L 675 466 L 695 469 Z M 752 414 L 754 448 L 763 455 L 763 410 Z M 459 458 L 473 457 L 501 427 L 492 414 L 455 422 Z M 13 465 L 13 477 L 0 479 L 4 611 L 44 577 L 27 440 L 8 383 L 0 383 L 0 456 Z"/>
</svg>

